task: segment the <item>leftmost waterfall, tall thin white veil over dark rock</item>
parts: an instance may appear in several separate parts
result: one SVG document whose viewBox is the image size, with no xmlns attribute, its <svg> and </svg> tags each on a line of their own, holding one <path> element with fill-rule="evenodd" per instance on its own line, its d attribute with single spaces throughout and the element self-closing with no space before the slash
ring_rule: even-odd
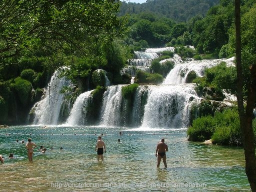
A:
<svg viewBox="0 0 256 192">
<path fill-rule="evenodd" d="M 57 70 L 53 73 L 43 99 L 36 102 L 31 109 L 34 110 L 33 124 L 58 124 L 59 112 L 64 96 L 60 93 L 60 90 L 63 86 L 69 85 L 71 85 L 70 80 L 67 80 L 65 77 L 58 77 Z"/>
</svg>

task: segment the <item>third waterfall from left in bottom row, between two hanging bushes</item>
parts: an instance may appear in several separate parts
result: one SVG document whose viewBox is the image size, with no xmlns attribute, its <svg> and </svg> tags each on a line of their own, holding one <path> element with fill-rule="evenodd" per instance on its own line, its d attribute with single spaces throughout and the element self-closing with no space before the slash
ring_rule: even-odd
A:
<svg viewBox="0 0 256 192">
<path fill-rule="evenodd" d="M 103 94 L 100 124 L 103 126 L 122 126 L 127 103 L 122 99 L 123 85 L 108 86 Z"/>
</svg>

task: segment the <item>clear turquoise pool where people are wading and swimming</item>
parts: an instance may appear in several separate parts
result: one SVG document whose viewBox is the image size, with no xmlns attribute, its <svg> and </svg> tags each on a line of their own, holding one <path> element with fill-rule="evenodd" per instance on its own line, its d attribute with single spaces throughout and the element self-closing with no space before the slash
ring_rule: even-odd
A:
<svg viewBox="0 0 256 192">
<path fill-rule="evenodd" d="M 101 133 L 106 153 L 97 162 Z M 20 143 L 28 137 L 47 148 L 45 154 L 34 150 L 33 162 Z M 162 137 L 166 169 L 162 162 L 156 168 L 154 155 Z M 243 149 L 188 142 L 186 129 L 11 126 L 0 129 L 0 154 L 0 191 L 250 191 Z"/>
</svg>

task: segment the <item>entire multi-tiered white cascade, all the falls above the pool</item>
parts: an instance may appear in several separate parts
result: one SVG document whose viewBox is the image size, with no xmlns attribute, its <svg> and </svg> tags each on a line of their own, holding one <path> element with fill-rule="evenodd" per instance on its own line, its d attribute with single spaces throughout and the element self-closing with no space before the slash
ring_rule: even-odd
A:
<svg viewBox="0 0 256 192">
<path fill-rule="evenodd" d="M 149 48 L 145 52 L 135 51 L 136 58 L 130 63 L 133 62 L 138 65 L 130 65 L 127 68 L 135 75 L 135 67 L 149 68 L 150 60 L 158 57 L 163 50 L 173 51 L 174 48 Z M 215 66 L 221 61 L 225 61 L 227 65 L 233 65 L 233 58 L 182 61 L 177 54 L 174 54 L 173 58 L 161 62 L 166 60 L 172 60 L 175 64 L 164 82 L 158 85 L 139 85 L 132 105 L 128 105 L 128 101 L 121 95 L 121 88 L 125 85 L 110 86 L 105 76 L 106 91 L 102 97 L 98 122 L 94 124 L 101 126 L 140 126 L 142 129 L 144 127 L 187 127 L 190 120 L 189 106 L 200 100 L 194 90 L 194 84 L 185 83 L 189 71 L 194 71 L 198 76 L 202 76 L 205 68 Z M 70 85 L 69 80 L 58 78 L 56 72 L 53 74 L 44 98 L 37 102 L 32 109 L 34 110 L 33 124 L 56 125 L 60 123 L 59 110 L 63 102 L 63 95 L 59 93 L 59 90 L 67 85 Z M 91 91 L 81 93 L 76 98 L 69 116 L 66 117 L 66 120 L 64 119 L 66 125 L 87 124 L 86 106 L 91 101 Z"/>
</svg>

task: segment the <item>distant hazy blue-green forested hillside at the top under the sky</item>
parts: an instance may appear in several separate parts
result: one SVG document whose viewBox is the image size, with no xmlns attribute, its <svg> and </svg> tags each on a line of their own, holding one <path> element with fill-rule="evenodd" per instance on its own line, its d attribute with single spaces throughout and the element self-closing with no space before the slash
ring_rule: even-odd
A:
<svg viewBox="0 0 256 192">
<path fill-rule="evenodd" d="M 124 1 L 118 15 L 151 12 L 160 17 L 183 22 L 196 15 L 205 16 L 208 9 L 217 4 L 219 0 L 147 0 L 141 4 Z"/>
</svg>

